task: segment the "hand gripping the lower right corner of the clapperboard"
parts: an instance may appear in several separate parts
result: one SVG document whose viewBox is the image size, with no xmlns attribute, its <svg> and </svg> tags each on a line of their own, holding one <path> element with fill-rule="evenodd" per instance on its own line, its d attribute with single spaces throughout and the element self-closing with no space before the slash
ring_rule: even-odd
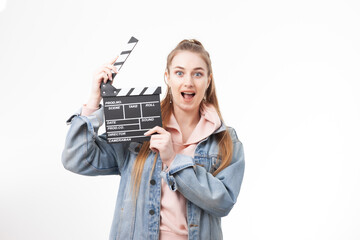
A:
<svg viewBox="0 0 360 240">
<path fill-rule="evenodd" d="M 154 135 L 152 135 L 150 139 L 150 149 L 152 151 L 159 152 L 163 163 L 169 166 L 176 156 L 172 144 L 171 133 L 162 127 L 156 126 L 144 133 L 145 136 L 149 136 L 151 134 Z"/>
</svg>

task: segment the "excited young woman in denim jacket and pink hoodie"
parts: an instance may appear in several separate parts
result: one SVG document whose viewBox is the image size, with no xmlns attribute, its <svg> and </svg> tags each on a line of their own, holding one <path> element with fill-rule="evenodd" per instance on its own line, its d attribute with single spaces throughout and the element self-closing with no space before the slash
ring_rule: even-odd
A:
<svg viewBox="0 0 360 240">
<path fill-rule="evenodd" d="M 88 104 L 68 120 L 64 167 L 121 175 L 110 239 L 222 239 L 221 217 L 236 202 L 245 163 L 242 143 L 221 117 L 208 52 L 194 39 L 170 52 L 163 127 L 146 132 L 151 139 L 143 144 L 108 144 L 97 134 L 100 84 L 111 79 L 115 60 L 94 75 Z"/>
</svg>

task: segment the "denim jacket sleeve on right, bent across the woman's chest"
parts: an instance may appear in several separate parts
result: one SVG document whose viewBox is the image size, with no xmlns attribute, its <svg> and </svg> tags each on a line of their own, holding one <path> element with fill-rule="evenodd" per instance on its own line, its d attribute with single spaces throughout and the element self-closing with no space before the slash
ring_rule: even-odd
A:
<svg viewBox="0 0 360 240">
<path fill-rule="evenodd" d="M 223 217 L 228 215 L 240 192 L 245 160 L 242 143 L 231 129 L 233 157 L 231 163 L 216 176 L 204 167 L 195 166 L 194 159 L 176 155 L 170 169 L 161 173 L 170 189 L 181 194 L 204 211 Z"/>
</svg>

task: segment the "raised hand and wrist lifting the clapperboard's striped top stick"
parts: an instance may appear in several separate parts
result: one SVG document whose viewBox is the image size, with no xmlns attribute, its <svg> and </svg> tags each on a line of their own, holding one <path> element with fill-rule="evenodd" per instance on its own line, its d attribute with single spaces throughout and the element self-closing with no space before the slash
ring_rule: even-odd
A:
<svg viewBox="0 0 360 240">
<path fill-rule="evenodd" d="M 101 101 L 101 93 L 100 93 L 100 85 L 102 82 L 106 83 L 109 79 L 112 80 L 112 72 L 113 70 L 117 73 L 116 67 L 113 65 L 118 59 L 119 56 L 116 56 L 110 62 L 105 63 L 98 70 L 95 71 L 93 76 L 93 82 L 91 86 L 91 93 L 89 100 L 87 102 L 87 106 L 89 108 L 98 108 Z"/>
</svg>

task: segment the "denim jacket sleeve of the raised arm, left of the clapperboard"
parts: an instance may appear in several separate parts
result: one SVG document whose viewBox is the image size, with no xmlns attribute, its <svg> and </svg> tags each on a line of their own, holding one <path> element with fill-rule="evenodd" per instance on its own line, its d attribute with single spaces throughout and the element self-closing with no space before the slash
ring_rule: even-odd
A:
<svg viewBox="0 0 360 240">
<path fill-rule="evenodd" d="M 119 175 L 123 165 L 125 144 L 108 144 L 105 133 L 98 136 L 103 124 L 103 107 L 90 116 L 72 115 L 61 160 L 65 169 L 81 175 Z"/>
</svg>

